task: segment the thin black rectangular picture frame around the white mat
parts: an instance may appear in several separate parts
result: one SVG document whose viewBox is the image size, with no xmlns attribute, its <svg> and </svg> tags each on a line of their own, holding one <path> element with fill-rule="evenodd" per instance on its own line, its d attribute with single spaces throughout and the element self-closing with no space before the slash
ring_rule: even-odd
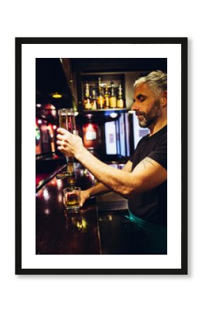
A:
<svg viewBox="0 0 202 314">
<path fill-rule="evenodd" d="M 187 38 L 15 38 L 15 274 L 141 275 L 187 274 Z M 179 269 L 22 268 L 22 45 L 171 44 L 181 46 L 181 267 Z"/>
</svg>

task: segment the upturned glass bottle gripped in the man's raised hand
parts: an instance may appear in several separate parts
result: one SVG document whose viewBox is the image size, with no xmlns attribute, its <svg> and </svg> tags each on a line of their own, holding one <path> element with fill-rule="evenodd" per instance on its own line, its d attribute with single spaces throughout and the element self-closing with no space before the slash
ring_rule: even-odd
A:
<svg viewBox="0 0 202 314">
<path fill-rule="evenodd" d="M 75 125 L 75 112 L 72 109 L 63 108 L 59 110 L 59 126 L 70 133 L 77 133 Z M 75 186 L 74 157 L 68 157 L 67 170 L 56 175 L 56 179 L 68 179 L 70 186 Z"/>
</svg>

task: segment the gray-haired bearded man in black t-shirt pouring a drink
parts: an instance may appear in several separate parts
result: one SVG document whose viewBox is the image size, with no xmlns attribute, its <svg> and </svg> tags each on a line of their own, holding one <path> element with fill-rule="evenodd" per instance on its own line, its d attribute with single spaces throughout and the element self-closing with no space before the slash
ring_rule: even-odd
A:
<svg viewBox="0 0 202 314">
<path fill-rule="evenodd" d="M 58 149 L 66 156 L 75 156 L 100 181 L 81 192 L 81 205 L 92 195 L 114 190 L 128 200 L 132 253 L 166 254 L 166 73 L 156 70 L 134 83 L 132 110 L 139 126 L 148 128 L 150 134 L 141 138 L 122 170 L 102 163 L 83 146 L 78 135 L 64 129 L 58 130 Z M 127 253 L 124 247 L 121 253 Z"/>
</svg>

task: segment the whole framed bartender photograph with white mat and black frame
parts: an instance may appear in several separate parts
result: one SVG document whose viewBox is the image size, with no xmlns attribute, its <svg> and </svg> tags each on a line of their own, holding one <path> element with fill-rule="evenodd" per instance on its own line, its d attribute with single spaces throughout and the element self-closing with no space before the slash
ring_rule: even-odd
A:
<svg viewBox="0 0 202 314">
<path fill-rule="evenodd" d="M 187 38 L 15 38 L 15 102 L 15 274 L 187 274 Z"/>
</svg>

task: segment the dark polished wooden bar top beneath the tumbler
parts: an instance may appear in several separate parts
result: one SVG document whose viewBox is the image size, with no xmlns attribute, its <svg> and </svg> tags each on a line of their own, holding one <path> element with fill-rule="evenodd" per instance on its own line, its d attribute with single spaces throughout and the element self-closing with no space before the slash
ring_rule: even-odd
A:
<svg viewBox="0 0 202 314">
<path fill-rule="evenodd" d="M 89 184 L 85 175 L 83 181 Z M 78 178 L 78 186 L 81 181 Z M 63 206 L 67 186 L 65 179 L 52 177 L 36 193 L 36 254 L 100 254 L 95 199 L 88 200 L 79 214 L 69 214 Z"/>
</svg>

